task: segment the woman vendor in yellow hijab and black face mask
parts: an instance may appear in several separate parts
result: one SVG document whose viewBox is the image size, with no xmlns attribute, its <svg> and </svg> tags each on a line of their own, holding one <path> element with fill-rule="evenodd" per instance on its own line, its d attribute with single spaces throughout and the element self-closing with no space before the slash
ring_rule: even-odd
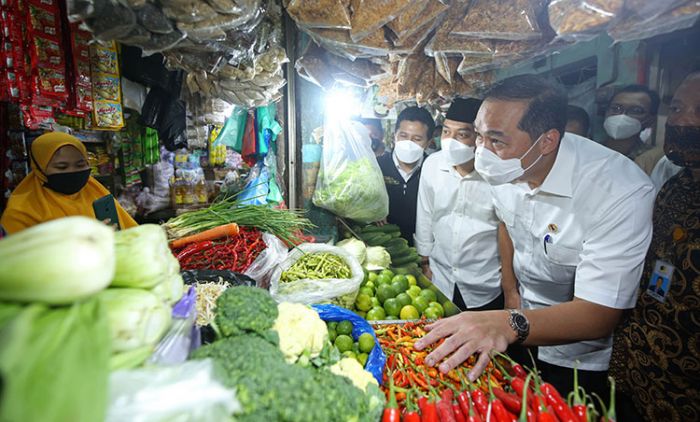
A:
<svg viewBox="0 0 700 422">
<path fill-rule="evenodd" d="M 46 133 L 32 142 L 30 157 L 32 171 L 12 192 L 0 219 L 9 234 L 72 215 L 95 218 L 93 201 L 109 191 L 90 176 L 82 142 L 66 133 Z M 136 226 L 114 202 L 121 228 Z"/>
</svg>

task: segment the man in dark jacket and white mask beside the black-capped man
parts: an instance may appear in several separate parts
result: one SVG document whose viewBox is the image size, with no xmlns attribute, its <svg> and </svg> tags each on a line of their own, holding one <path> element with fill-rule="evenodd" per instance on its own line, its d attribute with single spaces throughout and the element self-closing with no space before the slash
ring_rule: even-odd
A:
<svg viewBox="0 0 700 422">
<path fill-rule="evenodd" d="M 416 203 L 420 172 L 435 122 L 420 107 L 404 109 L 396 120 L 394 151 L 377 159 L 389 194 L 387 222 L 401 229 L 401 236 L 413 245 L 416 231 Z"/>
</svg>

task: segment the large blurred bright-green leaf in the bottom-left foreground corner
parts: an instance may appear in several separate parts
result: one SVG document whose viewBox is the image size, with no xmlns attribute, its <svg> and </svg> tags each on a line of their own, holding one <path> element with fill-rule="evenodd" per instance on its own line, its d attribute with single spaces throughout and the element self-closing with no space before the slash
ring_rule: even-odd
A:
<svg viewBox="0 0 700 422">
<path fill-rule="evenodd" d="M 100 302 L 2 303 L 0 315 L 0 420 L 104 420 L 110 338 Z"/>
</svg>

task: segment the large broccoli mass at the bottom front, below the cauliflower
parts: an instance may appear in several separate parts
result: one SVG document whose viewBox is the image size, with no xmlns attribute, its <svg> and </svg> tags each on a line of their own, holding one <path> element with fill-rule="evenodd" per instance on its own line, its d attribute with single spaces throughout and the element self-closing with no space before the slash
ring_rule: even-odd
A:
<svg viewBox="0 0 700 422">
<path fill-rule="evenodd" d="M 236 389 L 243 408 L 237 421 L 364 422 L 378 420 L 383 409 L 379 389 L 366 395 L 325 368 L 288 364 L 278 348 L 254 334 L 218 340 L 192 357 L 213 358 L 222 367 L 223 382 Z"/>
</svg>

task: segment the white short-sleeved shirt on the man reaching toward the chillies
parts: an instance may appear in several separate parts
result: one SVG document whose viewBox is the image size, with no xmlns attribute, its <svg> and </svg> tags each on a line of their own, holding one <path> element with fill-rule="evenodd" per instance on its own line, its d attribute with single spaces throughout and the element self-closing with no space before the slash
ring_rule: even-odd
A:
<svg viewBox="0 0 700 422">
<path fill-rule="evenodd" d="M 616 309 L 635 305 L 651 242 L 655 189 L 633 161 L 566 133 L 542 185 L 495 186 L 496 213 L 513 240 L 523 307 L 574 297 Z M 581 318 L 587 318 L 581 315 Z M 539 348 L 545 362 L 603 371 L 612 337 Z"/>
</svg>

